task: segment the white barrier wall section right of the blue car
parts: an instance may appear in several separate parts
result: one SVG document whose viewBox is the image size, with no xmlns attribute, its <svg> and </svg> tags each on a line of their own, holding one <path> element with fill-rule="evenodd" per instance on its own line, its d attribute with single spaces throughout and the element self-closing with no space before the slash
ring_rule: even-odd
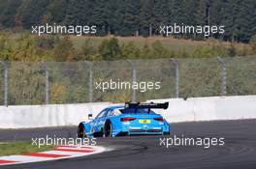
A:
<svg viewBox="0 0 256 169">
<path fill-rule="evenodd" d="M 192 99 L 151 99 L 169 101 L 161 113 L 169 123 L 215 120 L 256 119 L 256 96 L 211 97 Z"/>
</svg>

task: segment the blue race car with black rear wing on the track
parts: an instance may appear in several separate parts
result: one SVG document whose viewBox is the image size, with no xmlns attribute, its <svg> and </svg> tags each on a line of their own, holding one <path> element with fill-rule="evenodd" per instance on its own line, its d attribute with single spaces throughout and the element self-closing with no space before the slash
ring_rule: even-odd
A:
<svg viewBox="0 0 256 169">
<path fill-rule="evenodd" d="M 167 121 L 151 108 L 167 109 L 165 103 L 130 103 L 114 105 L 102 110 L 89 123 L 81 122 L 78 127 L 78 137 L 114 137 L 136 134 L 170 134 Z M 88 119 L 92 114 L 88 115 Z"/>
</svg>

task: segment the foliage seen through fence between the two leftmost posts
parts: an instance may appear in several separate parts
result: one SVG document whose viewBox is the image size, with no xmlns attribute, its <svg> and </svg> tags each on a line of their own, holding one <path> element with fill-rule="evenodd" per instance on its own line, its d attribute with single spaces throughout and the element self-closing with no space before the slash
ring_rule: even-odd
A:
<svg viewBox="0 0 256 169">
<path fill-rule="evenodd" d="M 13 62 L 9 65 L 9 103 L 45 102 L 46 76 L 40 64 Z"/>
</svg>

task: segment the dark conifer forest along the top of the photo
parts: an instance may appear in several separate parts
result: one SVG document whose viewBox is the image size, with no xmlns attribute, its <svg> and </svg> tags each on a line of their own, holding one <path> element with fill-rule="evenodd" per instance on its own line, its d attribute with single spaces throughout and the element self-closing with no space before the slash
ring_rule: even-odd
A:
<svg viewBox="0 0 256 169">
<path fill-rule="evenodd" d="M 7 0 L 0 2 L 2 29 L 32 25 L 96 25 L 99 36 L 159 35 L 159 25 L 224 25 L 213 38 L 249 42 L 256 34 L 254 0 Z M 177 38 L 204 39 L 202 35 Z"/>
</svg>

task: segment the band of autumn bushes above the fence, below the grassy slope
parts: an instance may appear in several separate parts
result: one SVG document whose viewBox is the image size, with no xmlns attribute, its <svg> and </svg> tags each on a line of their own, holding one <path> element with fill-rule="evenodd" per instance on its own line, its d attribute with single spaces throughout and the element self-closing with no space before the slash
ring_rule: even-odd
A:
<svg viewBox="0 0 256 169">
<path fill-rule="evenodd" d="M 119 39 L 84 38 L 80 46 L 75 46 L 69 36 L 41 36 L 30 34 L 12 35 L 10 32 L 0 32 L 0 54 L 3 61 L 112 61 L 124 59 L 155 59 L 155 58 L 210 58 L 216 56 L 252 55 L 254 38 L 250 46 L 240 43 L 218 42 L 208 39 L 208 43 L 182 45 L 163 42 L 161 39 L 144 39 L 142 42 L 123 42 Z M 82 39 L 83 40 L 83 39 Z M 103 40 L 103 41 L 102 41 Z M 136 41 L 136 42 L 135 42 Z M 171 41 L 172 42 L 172 41 Z M 182 41 L 181 41 L 182 42 Z M 97 46 L 98 45 L 98 46 Z M 175 48 L 175 47 L 178 48 Z"/>
</svg>

